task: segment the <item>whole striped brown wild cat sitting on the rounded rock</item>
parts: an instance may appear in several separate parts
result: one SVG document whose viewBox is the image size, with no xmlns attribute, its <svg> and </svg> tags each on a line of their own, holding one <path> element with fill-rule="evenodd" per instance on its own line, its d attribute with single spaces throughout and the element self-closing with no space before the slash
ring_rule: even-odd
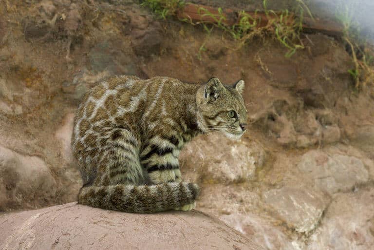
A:
<svg viewBox="0 0 374 250">
<path fill-rule="evenodd" d="M 78 203 L 124 212 L 192 209 L 199 187 L 181 182 L 178 155 L 199 134 L 243 135 L 243 87 L 215 77 L 200 85 L 129 76 L 94 86 L 75 115 L 72 148 L 84 183 Z"/>
</svg>

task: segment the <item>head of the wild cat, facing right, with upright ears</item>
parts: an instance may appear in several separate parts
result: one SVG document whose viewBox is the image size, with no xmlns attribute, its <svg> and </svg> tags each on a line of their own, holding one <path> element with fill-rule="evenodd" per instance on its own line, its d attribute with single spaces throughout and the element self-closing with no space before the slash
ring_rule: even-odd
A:
<svg viewBox="0 0 374 250">
<path fill-rule="evenodd" d="M 228 86 L 217 77 L 210 78 L 196 94 L 199 128 L 204 133 L 223 132 L 231 139 L 239 139 L 247 125 L 243 90 L 243 80 Z"/>
</svg>

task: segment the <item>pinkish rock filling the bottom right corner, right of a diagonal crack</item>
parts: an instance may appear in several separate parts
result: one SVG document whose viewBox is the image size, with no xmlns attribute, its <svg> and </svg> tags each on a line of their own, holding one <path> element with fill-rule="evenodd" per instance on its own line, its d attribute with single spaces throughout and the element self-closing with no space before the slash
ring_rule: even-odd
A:
<svg viewBox="0 0 374 250">
<path fill-rule="evenodd" d="M 371 250 L 374 246 L 374 190 L 339 193 L 307 250 Z"/>
</svg>

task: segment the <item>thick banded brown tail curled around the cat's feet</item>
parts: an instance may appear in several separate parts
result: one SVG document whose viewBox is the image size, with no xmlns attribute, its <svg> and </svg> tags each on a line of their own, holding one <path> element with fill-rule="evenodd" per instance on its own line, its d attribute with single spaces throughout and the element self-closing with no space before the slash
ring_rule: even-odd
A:
<svg viewBox="0 0 374 250">
<path fill-rule="evenodd" d="M 78 194 L 78 204 L 123 212 L 161 212 L 193 203 L 199 195 L 197 184 L 169 182 L 153 186 L 86 186 Z"/>
</svg>

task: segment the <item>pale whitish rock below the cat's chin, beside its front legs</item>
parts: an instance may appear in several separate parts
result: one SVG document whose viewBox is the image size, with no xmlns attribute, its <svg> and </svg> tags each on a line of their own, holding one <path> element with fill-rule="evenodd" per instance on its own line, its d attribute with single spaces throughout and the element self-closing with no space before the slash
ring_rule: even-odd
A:
<svg viewBox="0 0 374 250">
<path fill-rule="evenodd" d="M 198 171 L 203 182 L 228 184 L 253 179 L 264 157 L 264 150 L 256 143 L 231 141 L 216 134 L 200 136 L 187 144 L 180 161 L 188 172 Z"/>
</svg>

